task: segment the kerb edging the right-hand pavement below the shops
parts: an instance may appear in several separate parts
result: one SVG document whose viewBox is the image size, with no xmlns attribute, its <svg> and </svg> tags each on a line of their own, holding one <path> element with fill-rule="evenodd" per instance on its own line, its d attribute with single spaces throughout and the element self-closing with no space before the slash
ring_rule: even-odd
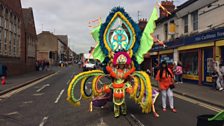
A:
<svg viewBox="0 0 224 126">
<path fill-rule="evenodd" d="M 158 88 L 158 86 L 155 86 L 155 85 L 152 85 L 152 86 Z M 207 100 L 204 100 L 204 99 L 201 99 L 201 98 L 198 98 L 198 97 L 194 97 L 194 96 L 191 96 L 191 95 L 188 95 L 186 93 L 179 92 L 179 91 L 173 90 L 173 92 L 176 93 L 176 94 L 179 94 L 179 95 L 182 95 L 182 96 L 185 96 L 185 97 L 188 97 L 188 98 L 200 101 L 200 102 L 204 102 L 206 104 L 209 104 L 209 105 L 212 105 L 212 106 L 216 106 L 216 107 L 219 107 L 221 109 L 224 109 L 224 106 L 222 106 L 222 105 L 219 105 L 219 104 L 216 104 L 216 103 L 212 103 L 212 102 L 209 102 Z"/>
</svg>

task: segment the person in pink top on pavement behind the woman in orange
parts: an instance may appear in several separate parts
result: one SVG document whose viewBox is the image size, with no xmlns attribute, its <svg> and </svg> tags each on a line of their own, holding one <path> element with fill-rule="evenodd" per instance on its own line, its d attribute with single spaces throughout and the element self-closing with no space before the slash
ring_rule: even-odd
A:
<svg viewBox="0 0 224 126">
<path fill-rule="evenodd" d="M 177 84 L 183 83 L 182 75 L 183 75 L 182 63 L 180 61 L 178 61 L 176 69 L 175 69 L 175 76 L 176 76 Z"/>
</svg>

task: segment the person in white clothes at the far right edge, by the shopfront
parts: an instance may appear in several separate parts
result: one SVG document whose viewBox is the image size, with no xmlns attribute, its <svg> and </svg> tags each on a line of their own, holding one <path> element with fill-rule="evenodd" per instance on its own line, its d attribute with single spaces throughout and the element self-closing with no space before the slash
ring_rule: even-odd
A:
<svg viewBox="0 0 224 126">
<path fill-rule="evenodd" d="M 222 91 L 223 87 L 223 74 L 220 71 L 220 65 L 218 61 L 215 61 L 213 64 L 214 71 L 217 74 L 217 79 L 216 79 L 216 89 Z"/>
</svg>

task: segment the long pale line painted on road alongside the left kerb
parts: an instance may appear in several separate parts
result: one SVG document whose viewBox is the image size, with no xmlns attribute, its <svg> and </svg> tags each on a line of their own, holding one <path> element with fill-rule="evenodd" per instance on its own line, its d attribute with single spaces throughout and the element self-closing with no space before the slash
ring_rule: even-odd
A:
<svg viewBox="0 0 224 126">
<path fill-rule="evenodd" d="M 11 91 L 11 92 L 9 92 L 9 93 L 7 93 L 7 94 L 4 94 L 4 95 L 2 95 L 1 96 L 1 98 L 9 98 L 9 97 L 11 97 L 12 95 L 14 95 L 14 94 L 17 94 L 17 93 L 19 93 L 19 92 L 21 92 L 21 91 L 23 91 L 23 90 L 25 90 L 25 89 L 27 89 L 27 88 L 29 88 L 29 87 L 32 87 L 32 86 L 34 86 L 34 85 L 36 85 L 36 84 L 39 84 L 40 82 L 42 82 L 42 81 L 44 81 L 44 80 L 46 80 L 46 79 L 48 79 L 48 78 L 51 78 L 52 76 L 54 76 L 54 75 L 56 75 L 58 72 L 56 72 L 56 73 L 54 73 L 54 74 L 52 74 L 52 75 L 50 75 L 50 76 L 47 76 L 47 77 L 44 77 L 44 78 L 42 78 L 42 79 L 40 79 L 40 80 L 38 80 L 38 81 L 35 81 L 35 82 L 33 82 L 33 83 L 31 83 L 31 84 L 28 84 L 28 85 L 26 85 L 26 86 L 23 86 L 23 87 L 21 87 L 21 88 L 19 88 L 19 89 L 17 89 L 17 90 L 13 90 L 13 91 Z"/>
</svg>

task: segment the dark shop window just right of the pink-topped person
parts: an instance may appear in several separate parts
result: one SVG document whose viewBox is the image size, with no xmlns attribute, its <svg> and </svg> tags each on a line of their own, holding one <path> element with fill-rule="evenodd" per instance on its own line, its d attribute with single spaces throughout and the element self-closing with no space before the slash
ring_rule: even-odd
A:
<svg viewBox="0 0 224 126">
<path fill-rule="evenodd" d="M 180 60 L 184 74 L 198 75 L 198 52 L 181 53 Z"/>
</svg>

